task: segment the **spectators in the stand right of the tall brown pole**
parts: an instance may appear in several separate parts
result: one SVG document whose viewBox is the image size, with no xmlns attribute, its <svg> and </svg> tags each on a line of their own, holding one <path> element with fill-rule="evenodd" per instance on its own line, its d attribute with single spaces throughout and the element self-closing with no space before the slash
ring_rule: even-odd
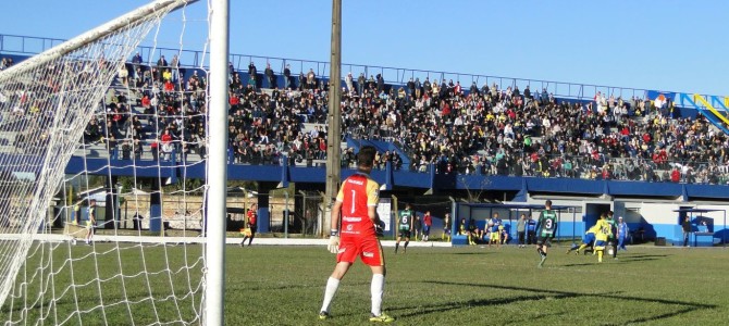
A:
<svg viewBox="0 0 729 326">
<path fill-rule="evenodd" d="M 701 115 L 678 117 L 670 100 L 598 92 L 569 102 L 529 86 L 472 84 L 466 92 L 458 82 L 428 78 L 388 90 L 345 84 L 346 129 L 400 143 L 413 171 L 726 181 L 719 179 L 729 163 L 726 135 Z"/>
</svg>

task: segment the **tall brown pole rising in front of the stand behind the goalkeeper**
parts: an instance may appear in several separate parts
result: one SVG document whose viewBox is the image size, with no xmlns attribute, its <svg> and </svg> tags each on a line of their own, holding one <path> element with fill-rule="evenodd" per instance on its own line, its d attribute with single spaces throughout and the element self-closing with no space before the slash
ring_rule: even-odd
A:
<svg viewBox="0 0 729 326">
<path fill-rule="evenodd" d="M 322 236 L 329 233 L 330 214 L 334 197 L 339 188 L 342 163 L 342 0 L 332 0 L 332 53 L 329 75 L 329 137 L 326 138 L 326 190 L 324 192 L 324 225 Z"/>
</svg>

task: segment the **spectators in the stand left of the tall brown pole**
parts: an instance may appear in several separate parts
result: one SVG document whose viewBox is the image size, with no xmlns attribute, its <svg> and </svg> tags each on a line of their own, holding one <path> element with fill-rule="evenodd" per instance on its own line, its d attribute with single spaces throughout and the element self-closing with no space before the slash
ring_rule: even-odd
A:
<svg viewBox="0 0 729 326">
<path fill-rule="evenodd" d="M 129 73 L 132 72 L 132 73 Z M 280 90 L 270 65 L 264 71 L 265 90 L 258 86 L 256 65 L 248 66 L 247 80 L 231 65 L 228 92 L 228 153 L 232 163 L 313 165 L 326 152 L 325 85 L 313 71 L 286 84 L 296 89 Z M 177 57 L 170 63 L 162 55 L 156 65 L 146 65 L 137 53 L 124 65 L 116 84 L 103 101 L 103 112 L 92 118 L 85 133 L 86 143 L 103 143 L 112 159 L 141 159 L 150 151 L 153 160 L 173 155 L 187 160 L 195 153 L 205 158 L 207 80 L 199 70 L 181 67 Z M 288 78 L 287 78 L 288 80 Z M 305 130 L 305 123 L 314 127 Z M 318 124 L 318 126 L 317 126 Z"/>
</svg>

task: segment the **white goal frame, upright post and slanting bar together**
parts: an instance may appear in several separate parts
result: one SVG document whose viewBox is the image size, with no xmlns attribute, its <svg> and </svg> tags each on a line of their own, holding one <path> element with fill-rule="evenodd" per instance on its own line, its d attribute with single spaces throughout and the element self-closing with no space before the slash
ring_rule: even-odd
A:
<svg viewBox="0 0 729 326">
<path fill-rule="evenodd" d="M 0 84 L 17 74 L 32 71 L 63 55 L 85 47 L 94 41 L 113 34 L 115 30 L 134 26 L 147 17 L 161 15 L 199 0 L 156 0 L 127 14 L 110 21 L 99 27 L 67 40 L 41 54 L 24 60 L 0 74 Z M 227 129 L 227 62 L 228 62 L 228 30 L 230 30 L 230 0 L 208 0 L 209 11 L 209 41 L 210 41 L 210 78 L 209 78 L 209 152 L 207 159 L 207 189 L 205 201 L 207 212 L 203 212 L 205 231 L 205 268 L 203 277 L 203 316 L 200 322 L 206 325 L 224 324 L 225 296 L 225 212 L 226 212 L 226 181 L 227 134 L 210 130 Z M 89 105 L 91 105 L 89 103 Z M 211 217 L 211 218 L 208 218 Z M 35 234 L 30 234 L 35 237 Z"/>
</svg>

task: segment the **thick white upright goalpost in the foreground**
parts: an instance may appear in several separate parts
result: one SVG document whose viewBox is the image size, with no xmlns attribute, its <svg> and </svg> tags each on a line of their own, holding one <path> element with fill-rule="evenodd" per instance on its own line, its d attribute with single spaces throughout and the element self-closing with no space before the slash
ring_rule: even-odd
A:
<svg viewBox="0 0 729 326">
<path fill-rule="evenodd" d="M 205 325 L 223 325 L 225 298 L 225 201 L 227 184 L 227 58 L 230 0 L 211 0 L 210 110 Z M 221 131 L 222 130 L 222 131 Z"/>
</svg>

